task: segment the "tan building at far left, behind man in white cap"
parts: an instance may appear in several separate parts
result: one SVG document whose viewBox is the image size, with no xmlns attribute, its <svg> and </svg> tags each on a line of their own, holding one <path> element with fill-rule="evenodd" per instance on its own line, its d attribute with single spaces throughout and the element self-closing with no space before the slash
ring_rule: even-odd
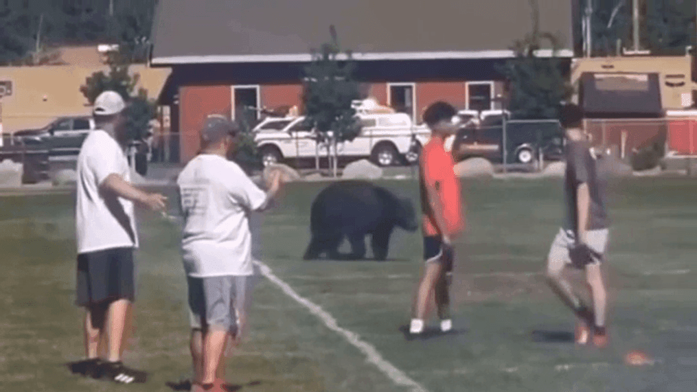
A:
<svg viewBox="0 0 697 392">
<path fill-rule="evenodd" d="M 96 46 L 61 49 L 64 65 L 0 67 L 0 84 L 11 87 L 11 93 L 0 100 L 0 116 L 4 134 L 33 127 L 43 127 L 59 116 L 89 114 L 91 107 L 79 91 L 87 77 L 109 68 Z M 148 68 L 132 65 L 130 72 L 140 75 L 140 87 L 157 99 L 170 68 Z"/>
</svg>

